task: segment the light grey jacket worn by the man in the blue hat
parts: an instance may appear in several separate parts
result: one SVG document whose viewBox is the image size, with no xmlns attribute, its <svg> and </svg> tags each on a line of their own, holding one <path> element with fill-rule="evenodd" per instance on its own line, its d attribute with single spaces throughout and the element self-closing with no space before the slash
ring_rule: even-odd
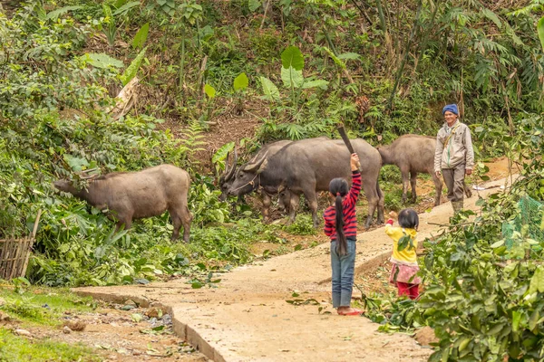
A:
<svg viewBox="0 0 544 362">
<path fill-rule="evenodd" d="M 448 132 L 448 124 L 444 123 L 436 136 L 436 150 L 434 152 L 434 171 L 442 168 L 454 168 L 461 164 L 465 168 L 474 167 L 474 150 L 472 149 L 471 129 L 457 120 Z"/>
</svg>

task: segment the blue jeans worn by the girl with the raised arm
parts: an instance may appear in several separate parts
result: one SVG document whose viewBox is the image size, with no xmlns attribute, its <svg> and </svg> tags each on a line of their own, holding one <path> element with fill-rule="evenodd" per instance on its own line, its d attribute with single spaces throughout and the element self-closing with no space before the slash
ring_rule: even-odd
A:
<svg viewBox="0 0 544 362">
<path fill-rule="evenodd" d="M 331 267 L 333 269 L 333 308 L 349 307 L 354 288 L 355 239 L 347 239 L 347 252 L 338 255 L 338 242 L 331 242 Z"/>
</svg>

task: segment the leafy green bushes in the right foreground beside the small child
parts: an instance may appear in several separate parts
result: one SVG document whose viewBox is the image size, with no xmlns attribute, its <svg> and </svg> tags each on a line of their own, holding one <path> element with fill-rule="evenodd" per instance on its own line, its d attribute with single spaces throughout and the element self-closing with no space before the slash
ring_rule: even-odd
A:
<svg viewBox="0 0 544 362">
<path fill-rule="evenodd" d="M 525 119 L 517 137 L 502 138 L 512 159 L 522 162 L 544 151 L 542 120 Z M 431 326 L 440 338 L 432 361 L 541 360 L 544 241 L 532 238 L 527 220 L 513 233 L 511 247 L 501 229 L 520 214 L 520 197 L 544 199 L 543 167 L 541 159 L 526 162 L 524 178 L 510 193 L 478 201 L 474 222 L 467 223 L 474 213 L 461 213 L 446 233 L 426 241 L 420 300 L 367 296 L 370 318 L 390 331 Z M 542 230 L 544 214 L 533 212 L 529 222 Z"/>
</svg>

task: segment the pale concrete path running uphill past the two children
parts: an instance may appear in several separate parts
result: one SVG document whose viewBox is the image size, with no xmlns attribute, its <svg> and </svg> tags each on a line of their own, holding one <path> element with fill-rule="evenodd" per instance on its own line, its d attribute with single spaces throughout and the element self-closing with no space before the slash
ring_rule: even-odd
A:
<svg viewBox="0 0 544 362">
<path fill-rule="evenodd" d="M 500 192 L 505 180 L 491 182 L 483 197 Z M 465 201 L 474 205 L 478 193 Z M 449 203 L 421 214 L 420 238 L 439 232 L 452 215 Z M 369 319 L 319 313 L 332 311 L 329 244 L 239 267 L 219 276 L 217 289 L 191 289 L 185 280 L 75 290 L 94 298 L 170 310 L 174 330 L 205 356 L 220 361 L 423 361 L 432 353 L 403 334 L 377 332 Z M 374 268 L 391 253 L 383 228 L 361 233 L 356 270 Z M 299 296 L 294 298 L 293 292 Z M 292 305 L 286 300 L 317 300 L 318 305 Z"/>
</svg>

